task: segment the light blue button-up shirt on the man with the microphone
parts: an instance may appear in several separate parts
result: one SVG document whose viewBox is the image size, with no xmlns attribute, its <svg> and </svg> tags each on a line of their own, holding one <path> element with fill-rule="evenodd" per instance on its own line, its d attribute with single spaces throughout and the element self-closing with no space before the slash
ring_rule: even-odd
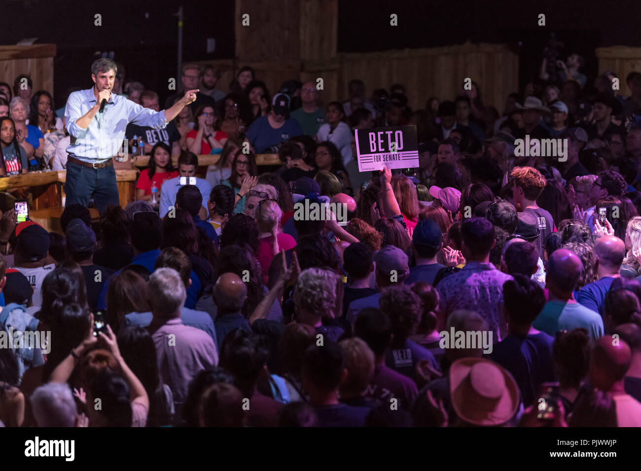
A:
<svg viewBox="0 0 641 471">
<path fill-rule="evenodd" d="M 82 129 L 76 121 L 96 106 L 94 88 L 79 90 L 69 95 L 65 107 L 67 131 L 71 135 L 71 145 L 67 152 L 78 160 L 104 161 L 115 156 L 121 149 L 127 125 L 131 122 L 139 126 L 161 129 L 167 126 L 165 112 L 154 112 L 140 104 L 113 94 L 104 106 L 103 113 L 96 113 L 87 129 Z"/>
</svg>

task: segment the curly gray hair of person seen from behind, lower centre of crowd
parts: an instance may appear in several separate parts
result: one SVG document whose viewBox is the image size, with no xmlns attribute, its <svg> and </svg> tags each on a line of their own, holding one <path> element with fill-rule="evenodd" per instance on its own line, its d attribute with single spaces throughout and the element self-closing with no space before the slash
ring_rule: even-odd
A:
<svg viewBox="0 0 641 471">
<path fill-rule="evenodd" d="M 322 316 L 336 308 L 337 274 L 331 270 L 303 270 L 296 280 L 294 304 L 299 310 Z"/>
</svg>

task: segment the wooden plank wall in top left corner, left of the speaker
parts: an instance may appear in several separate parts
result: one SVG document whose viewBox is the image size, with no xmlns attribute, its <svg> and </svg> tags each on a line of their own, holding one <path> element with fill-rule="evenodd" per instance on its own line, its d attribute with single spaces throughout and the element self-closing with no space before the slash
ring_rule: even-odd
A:
<svg viewBox="0 0 641 471">
<path fill-rule="evenodd" d="M 13 80 L 17 76 L 29 74 L 34 91 L 47 90 L 53 94 L 55 55 L 55 44 L 0 46 L 0 81 L 13 87 Z"/>
</svg>

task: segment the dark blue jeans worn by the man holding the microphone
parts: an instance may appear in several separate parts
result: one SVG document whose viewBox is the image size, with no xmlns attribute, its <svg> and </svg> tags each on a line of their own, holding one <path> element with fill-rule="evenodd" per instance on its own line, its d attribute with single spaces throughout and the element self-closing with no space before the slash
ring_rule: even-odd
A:
<svg viewBox="0 0 641 471">
<path fill-rule="evenodd" d="M 119 205 L 116 171 L 113 165 L 102 169 L 90 169 L 77 163 L 67 162 L 66 204 L 88 206 L 94 197 L 99 213 L 103 213 L 110 204 Z"/>
</svg>

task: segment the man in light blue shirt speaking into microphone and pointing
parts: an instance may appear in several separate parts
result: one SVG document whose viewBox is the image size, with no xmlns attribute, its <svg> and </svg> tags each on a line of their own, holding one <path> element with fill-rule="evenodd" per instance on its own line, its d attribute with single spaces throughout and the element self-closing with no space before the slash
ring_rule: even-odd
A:
<svg viewBox="0 0 641 471">
<path fill-rule="evenodd" d="M 94 197 L 99 213 L 119 204 L 113 157 L 121 149 L 125 129 L 139 126 L 164 128 L 180 110 L 196 100 L 198 90 L 188 90 L 174 105 L 161 112 L 143 108 L 121 95 L 112 94 L 116 63 L 98 59 L 91 66 L 94 87 L 69 95 L 65 108 L 71 145 L 67 147 L 66 204 L 88 206 Z"/>
</svg>

